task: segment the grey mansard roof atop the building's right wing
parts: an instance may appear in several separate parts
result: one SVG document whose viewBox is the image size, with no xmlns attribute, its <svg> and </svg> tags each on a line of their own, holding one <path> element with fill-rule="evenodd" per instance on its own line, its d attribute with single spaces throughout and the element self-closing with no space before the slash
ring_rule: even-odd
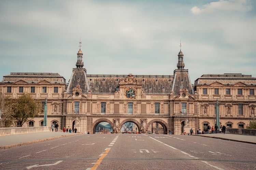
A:
<svg viewBox="0 0 256 170">
<path fill-rule="evenodd" d="M 256 85 L 256 78 L 252 77 L 252 75 L 245 75 L 241 73 L 225 73 L 225 74 L 203 74 L 195 81 L 195 85 L 203 85 L 203 84 L 212 84 L 214 82 L 219 82 L 224 85 L 227 84 L 235 84 L 238 82 L 242 82 L 247 85 Z"/>
</svg>

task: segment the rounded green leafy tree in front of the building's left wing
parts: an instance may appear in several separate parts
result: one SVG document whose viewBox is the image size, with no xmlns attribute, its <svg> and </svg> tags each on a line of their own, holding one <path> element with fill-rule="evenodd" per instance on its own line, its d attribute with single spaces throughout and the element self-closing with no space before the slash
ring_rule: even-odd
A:
<svg viewBox="0 0 256 170">
<path fill-rule="evenodd" d="M 18 99 L 14 99 L 12 110 L 13 117 L 23 125 L 42 112 L 42 103 L 32 99 L 28 93 L 23 93 Z"/>
</svg>

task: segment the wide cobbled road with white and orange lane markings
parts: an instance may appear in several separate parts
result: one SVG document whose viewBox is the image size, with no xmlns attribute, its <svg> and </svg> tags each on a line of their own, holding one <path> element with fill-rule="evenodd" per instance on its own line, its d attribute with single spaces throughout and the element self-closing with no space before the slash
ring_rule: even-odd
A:
<svg viewBox="0 0 256 170">
<path fill-rule="evenodd" d="M 256 169 L 256 145 L 200 136 L 90 134 L 0 150 L 0 169 Z"/>
</svg>

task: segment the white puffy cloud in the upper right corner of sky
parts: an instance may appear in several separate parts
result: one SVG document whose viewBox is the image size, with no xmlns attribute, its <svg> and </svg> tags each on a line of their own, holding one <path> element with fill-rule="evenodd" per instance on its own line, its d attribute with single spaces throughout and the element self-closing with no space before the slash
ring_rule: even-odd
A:
<svg viewBox="0 0 256 170">
<path fill-rule="evenodd" d="M 250 0 L 220 0 L 203 5 L 203 8 L 194 6 L 191 12 L 195 15 L 201 13 L 214 13 L 218 11 L 248 12 L 252 9 Z"/>
</svg>

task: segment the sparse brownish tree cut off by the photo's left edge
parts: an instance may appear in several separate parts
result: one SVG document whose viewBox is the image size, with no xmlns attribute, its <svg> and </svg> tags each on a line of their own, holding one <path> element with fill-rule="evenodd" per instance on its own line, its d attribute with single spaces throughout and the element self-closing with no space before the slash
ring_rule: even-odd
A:
<svg viewBox="0 0 256 170">
<path fill-rule="evenodd" d="M 12 101 L 9 100 L 9 96 L 5 96 L 0 93 L 0 127 L 11 127 L 13 124 L 13 112 L 12 112 Z"/>
</svg>

